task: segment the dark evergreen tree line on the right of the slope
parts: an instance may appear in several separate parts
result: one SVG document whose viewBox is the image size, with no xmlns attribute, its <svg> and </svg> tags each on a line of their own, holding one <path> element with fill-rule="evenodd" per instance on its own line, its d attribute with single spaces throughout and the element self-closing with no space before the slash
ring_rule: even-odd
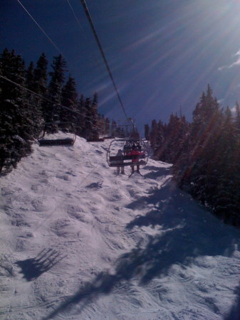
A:
<svg viewBox="0 0 240 320">
<path fill-rule="evenodd" d="M 145 125 L 155 159 L 173 164 L 174 180 L 226 223 L 240 226 L 240 107 L 219 105 L 212 89 L 197 103 L 192 122 L 171 114 L 169 122 Z"/>
</svg>

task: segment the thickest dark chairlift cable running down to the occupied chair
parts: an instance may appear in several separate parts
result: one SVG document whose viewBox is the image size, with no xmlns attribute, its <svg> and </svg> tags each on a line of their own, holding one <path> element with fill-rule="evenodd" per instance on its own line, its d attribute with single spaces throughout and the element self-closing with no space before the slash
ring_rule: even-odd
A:
<svg viewBox="0 0 240 320">
<path fill-rule="evenodd" d="M 125 111 L 125 107 L 124 107 L 124 105 L 123 105 L 123 103 L 122 103 L 120 94 L 119 94 L 119 92 L 118 92 L 118 87 L 117 87 L 117 85 L 115 84 L 115 81 L 114 81 L 114 78 L 113 78 L 113 74 L 111 73 L 110 67 L 109 67 L 109 65 L 108 65 L 108 60 L 107 60 L 107 58 L 106 58 L 106 56 L 105 56 L 105 53 L 104 53 L 104 51 L 103 51 L 103 47 L 102 47 L 102 45 L 101 45 L 101 43 L 100 43 L 100 40 L 99 40 L 99 38 L 98 38 L 98 34 L 97 34 L 96 30 L 95 30 L 95 26 L 94 26 L 94 24 L 93 24 L 93 20 L 92 20 L 92 18 L 91 18 L 91 16 L 90 16 L 90 13 L 89 13 L 89 11 L 88 11 L 88 6 L 87 6 L 85 0 L 80 0 L 80 1 L 81 1 L 81 4 L 83 5 L 83 9 L 84 9 L 84 11 L 85 11 L 85 14 L 86 14 L 86 16 L 87 16 L 87 18 L 88 18 L 88 22 L 90 23 L 90 27 L 91 27 L 91 29 L 92 29 L 92 31 L 93 31 L 93 36 L 94 36 L 94 38 L 95 38 L 95 41 L 97 42 L 98 48 L 99 48 L 100 53 L 101 53 L 101 55 L 102 55 L 102 57 L 103 57 L 103 61 L 104 61 L 104 63 L 105 63 L 105 67 L 106 67 L 107 70 L 108 70 L 108 75 L 110 76 L 110 79 L 112 80 L 113 87 L 114 87 L 114 89 L 115 89 L 115 92 L 116 92 L 116 94 L 117 94 L 118 100 L 119 100 L 119 102 L 120 102 L 120 106 L 122 107 L 122 110 L 123 110 L 123 112 L 124 112 L 124 114 L 125 114 L 125 117 L 127 118 L 127 121 L 130 121 L 130 122 L 132 123 L 132 126 L 135 127 L 135 124 L 132 122 L 132 119 L 130 119 L 130 117 L 127 117 L 127 113 L 126 113 L 126 111 Z"/>
</svg>

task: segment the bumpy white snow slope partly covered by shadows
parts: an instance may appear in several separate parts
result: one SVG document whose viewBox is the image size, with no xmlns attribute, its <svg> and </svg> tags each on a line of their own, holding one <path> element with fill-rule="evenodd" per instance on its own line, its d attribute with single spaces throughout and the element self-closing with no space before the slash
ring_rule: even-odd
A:
<svg viewBox="0 0 240 320">
<path fill-rule="evenodd" d="M 116 176 L 109 144 L 36 144 L 1 177 L 1 319 L 240 319 L 240 230 L 169 164 Z"/>
</svg>

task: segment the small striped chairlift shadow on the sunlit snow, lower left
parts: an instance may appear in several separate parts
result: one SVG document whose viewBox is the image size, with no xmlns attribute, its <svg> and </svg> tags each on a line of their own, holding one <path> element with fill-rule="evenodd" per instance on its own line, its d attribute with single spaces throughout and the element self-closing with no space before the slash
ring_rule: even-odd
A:
<svg viewBox="0 0 240 320">
<path fill-rule="evenodd" d="M 27 281 L 32 281 L 40 277 L 44 272 L 50 270 L 64 257 L 62 257 L 56 250 L 43 249 L 36 257 L 22 261 L 16 261 L 15 263 L 21 267 L 20 273 L 24 274 L 24 279 Z"/>
</svg>

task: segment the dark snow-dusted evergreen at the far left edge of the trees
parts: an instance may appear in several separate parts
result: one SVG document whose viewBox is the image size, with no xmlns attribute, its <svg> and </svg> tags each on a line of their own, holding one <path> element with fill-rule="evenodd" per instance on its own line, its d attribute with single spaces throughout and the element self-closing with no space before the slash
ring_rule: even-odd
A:
<svg viewBox="0 0 240 320">
<path fill-rule="evenodd" d="M 0 56 L 1 74 L 21 86 L 26 82 L 26 70 L 21 55 L 5 49 Z M 0 96 L 0 172 L 11 170 L 23 156 L 31 152 L 34 123 L 31 105 L 26 100 L 26 90 L 11 82 L 1 80 Z"/>
</svg>

